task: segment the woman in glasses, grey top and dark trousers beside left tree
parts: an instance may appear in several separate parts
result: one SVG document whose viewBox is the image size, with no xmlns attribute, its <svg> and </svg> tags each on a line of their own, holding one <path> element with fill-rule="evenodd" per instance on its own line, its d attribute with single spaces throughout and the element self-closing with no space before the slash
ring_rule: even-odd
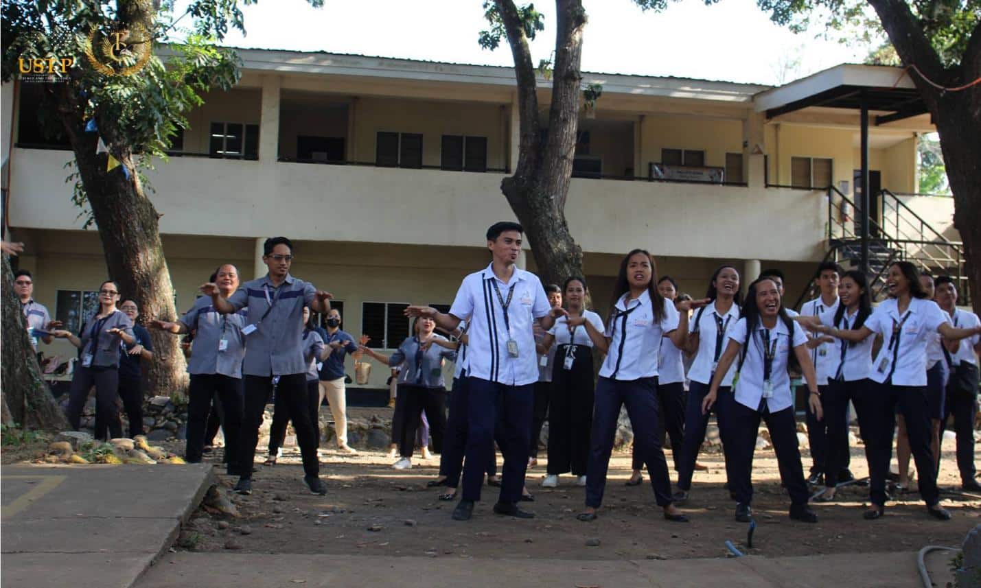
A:
<svg viewBox="0 0 981 588">
<path fill-rule="evenodd" d="M 85 322 L 79 335 L 64 329 L 51 332 L 59 339 L 68 339 L 69 343 L 81 350 L 69 391 L 69 423 L 73 428 L 78 428 L 88 391 L 95 386 L 95 420 L 109 428 L 110 438 L 123 436 L 123 422 L 116 406 L 119 399 L 120 340 L 127 345 L 136 341 L 132 334 L 132 321 L 116 308 L 119 299 L 119 284 L 108 279 L 99 285 L 99 312 Z M 96 427 L 96 438 L 103 438 L 105 426 Z"/>
</svg>

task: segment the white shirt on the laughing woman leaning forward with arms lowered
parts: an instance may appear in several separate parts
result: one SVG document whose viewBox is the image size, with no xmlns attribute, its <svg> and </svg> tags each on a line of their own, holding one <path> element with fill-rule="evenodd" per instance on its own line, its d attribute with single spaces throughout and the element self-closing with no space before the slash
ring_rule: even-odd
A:
<svg viewBox="0 0 981 588">
<path fill-rule="evenodd" d="M 794 325 L 794 340 L 791 341 L 790 331 L 783 319 L 777 318 L 777 325 L 769 330 L 770 345 L 776 342 L 776 353 L 770 369 L 770 383 L 773 385 L 773 396 L 766 400 L 770 413 L 783 411 L 794 406 L 794 394 L 791 391 L 791 376 L 787 372 L 787 362 L 794 348 L 807 343 L 804 329 Z M 757 324 L 752 337 L 747 340 L 746 319 L 739 319 L 736 326 L 729 332 L 729 338 L 746 347 L 746 361 L 739 372 L 736 382 L 736 402 L 752 409 L 759 409 L 763 398 L 763 331 L 767 330 L 762 324 Z M 741 350 L 742 353 L 742 350 Z M 739 362 L 739 356 L 734 363 Z"/>
</svg>

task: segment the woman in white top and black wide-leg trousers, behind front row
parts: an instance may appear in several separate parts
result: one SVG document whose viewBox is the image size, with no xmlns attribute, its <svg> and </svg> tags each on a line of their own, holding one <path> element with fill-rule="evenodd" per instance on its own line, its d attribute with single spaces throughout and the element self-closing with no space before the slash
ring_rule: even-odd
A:
<svg viewBox="0 0 981 588">
<path fill-rule="evenodd" d="M 573 275 L 562 286 L 562 298 L 569 318 L 559 317 L 542 340 L 551 350 L 556 344 L 552 362 L 551 389 L 548 398 L 548 467 L 542 486 L 558 486 L 558 476 L 572 471 L 578 486 L 586 485 L 586 467 L 590 457 L 590 429 L 593 427 L 593 339 L 586 327 L 572 326 L 569 319 L 582 317 L 597 332 L 603 331 L 603 319 L 586 310 L 589 296 L 586 278 Z"/>
</svg>

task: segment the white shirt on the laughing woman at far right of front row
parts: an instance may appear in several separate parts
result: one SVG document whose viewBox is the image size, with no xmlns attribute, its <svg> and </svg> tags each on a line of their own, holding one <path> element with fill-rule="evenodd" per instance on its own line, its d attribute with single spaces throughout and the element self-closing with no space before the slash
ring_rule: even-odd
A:
<svg viewBox="0 0 981 588">
<path fill-rule="evenodd" d="M 899 343 L 894 344 L 893 331 L 901 322 L 903 327 L 897 333 Z M 896 386 L 925 386 L 927 343 L 930 335 L 936 333 L 944 322 L 950 322 L 950 315 L 940 310 L 932 300 L 911 299 L 909 308 L 902 316 L 895 298 L 884 301 L 865 320 L 869 330 L 882 334 L 882 349 L 872 362 L 869 377 L 882 383 L 892 372 L 892 383 Z M 882 370 L 885 358 L 889 362 Z"/>
</svg>

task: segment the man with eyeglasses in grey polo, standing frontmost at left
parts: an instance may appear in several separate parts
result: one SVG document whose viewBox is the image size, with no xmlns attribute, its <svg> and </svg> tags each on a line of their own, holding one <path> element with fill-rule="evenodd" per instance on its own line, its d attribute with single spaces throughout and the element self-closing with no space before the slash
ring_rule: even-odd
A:
<svg viewBox="0 0 981 588">
<path fill-rule="evenodd" d="M 259 425 L 274 390 L 284 398 L 287 416 L 296 429 L 303 457 L 303 481 L 311 493 L 327 494 L 327 486 L 319 476 L 314 434 L 317 425 L 310 418 L 308 408 L 307 365 L 301 343 L 303 307 L 326 315 L 331 311 L 333 295 L 289 274 L 292 250 L 293 244 L 285 237 L 266 239 L 262 260 L 269 272 L 243 283 L 228 299 L 213 282 L 201 286 L 219 313 L 229 315 L 248 307 L 246 325 L 242 328 L 246 345 L 242 364 L 244 411 L 238 437 L 241 476 L 235 484 L 235 492 L 239 494 L 252 493 L 252 464 L 259 442 Z"/>
</svg>

